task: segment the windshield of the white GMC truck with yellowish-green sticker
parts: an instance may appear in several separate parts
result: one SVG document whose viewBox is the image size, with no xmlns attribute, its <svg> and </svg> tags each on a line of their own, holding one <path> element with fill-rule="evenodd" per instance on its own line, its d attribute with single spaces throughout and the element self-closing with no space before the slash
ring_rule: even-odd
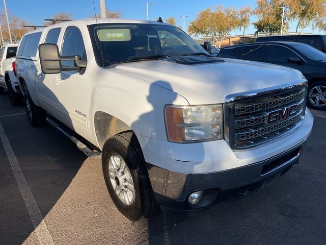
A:
<svg viewBox="0 0 326 245">
<path fill-rule="evenodd" d="M 89 32 L 99 66 L 148 58 L 208 53 L 177 27 L 166 24 L 92 24 Z"/>
</svg>

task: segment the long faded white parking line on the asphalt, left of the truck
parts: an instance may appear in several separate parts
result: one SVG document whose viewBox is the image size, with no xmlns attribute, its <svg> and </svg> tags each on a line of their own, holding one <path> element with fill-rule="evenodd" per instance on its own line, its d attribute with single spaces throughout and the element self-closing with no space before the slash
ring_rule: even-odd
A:
<svg viewBox="0 0 326 245">
<path fill-rule="evenodd" d="M 33 197 L 32 191 L 26 182 L 26 179 L 21 171 L 16 156 L 11 148 L 7 135 L 0 122 L 0 138 L 4 144 L 7 157 L 9 159 L 12 171 L 16 178 L 20 193 L 25 202 L 26 208 L 29 211 L 32 223 L 35 228 L 35 233 L 38 237 L 40 244 L 54 244 L 51 234 L 44 222 L 41 211 Z"/>
</svg>

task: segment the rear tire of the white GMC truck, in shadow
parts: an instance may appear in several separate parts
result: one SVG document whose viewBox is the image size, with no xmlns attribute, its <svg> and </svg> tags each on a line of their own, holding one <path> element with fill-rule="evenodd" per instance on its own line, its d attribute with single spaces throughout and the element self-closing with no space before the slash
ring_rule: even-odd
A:
<svg viewBox="0 0 326 245">
<path fill-rule="evenodd" d="M 33 127 L 38 128 L 46 125 L 46 111 L 34 104 L 27 90 L 25 91 L 24 104 L 27 117 Z"/>
</svg>

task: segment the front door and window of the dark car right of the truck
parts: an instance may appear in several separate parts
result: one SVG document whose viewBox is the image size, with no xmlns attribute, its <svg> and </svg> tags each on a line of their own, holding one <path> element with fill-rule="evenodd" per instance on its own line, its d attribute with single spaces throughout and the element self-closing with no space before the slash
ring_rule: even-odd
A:
<svg viewBox="0 0 326 245">
<path fill-rule="evenodd" d="M 304 61 L 299 55 L 297 55 L 290 48 L 278 44 L 269 44 L 266 46 L 267 46 L 266 59 L 265 59 L 266 62 L 277 64 L 277 65 L 283 65 L 302 71 L 302 66 L 304 64 Z M 298 57 L 303 62 L 302 63 L 289 62 L 288 59 L 290 57 Z"/>
</svg>

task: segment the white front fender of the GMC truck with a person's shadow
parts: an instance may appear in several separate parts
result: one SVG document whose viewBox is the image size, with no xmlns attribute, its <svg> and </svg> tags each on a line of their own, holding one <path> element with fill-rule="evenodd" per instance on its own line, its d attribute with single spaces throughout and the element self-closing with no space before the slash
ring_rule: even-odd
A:
<svg viewBox="0 0 326 245">
<path fill-rule="evenodd" d="M 160 85 L 98 67 L 92 75 L 92 112 L 110 114 L 123 121 L 138 135 L 167 140 L 164 107 L 188 105 L 184 97 Z M 169 86 L 169 84 L 167 84 Z M 94 123 L 94 122 L 93 122 Z M 96 132 L 94 132 L 96 135 Z"/>
</svg>

